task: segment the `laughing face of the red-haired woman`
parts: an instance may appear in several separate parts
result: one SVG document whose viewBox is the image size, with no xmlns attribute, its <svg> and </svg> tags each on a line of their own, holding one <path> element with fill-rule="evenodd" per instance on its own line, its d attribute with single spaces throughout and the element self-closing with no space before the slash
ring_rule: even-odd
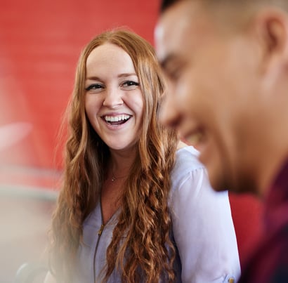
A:
<svg viewBox="0 0 288 283">
<path fill-rule="evenodd" d="M 112 150 L 130 150 L 143 123 L 143 94 L 133 62 L 122 48 L 103 44 L 86 62 L 87 117 Z"/>
</svg>

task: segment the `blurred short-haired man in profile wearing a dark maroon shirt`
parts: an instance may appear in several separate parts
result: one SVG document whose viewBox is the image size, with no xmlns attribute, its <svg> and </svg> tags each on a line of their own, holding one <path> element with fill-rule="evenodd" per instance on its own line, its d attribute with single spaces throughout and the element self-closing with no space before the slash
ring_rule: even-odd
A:
<svg viewBox="0 0 288 283">
<path fill-rule="evenodd" d="M 164 124 L 199 150 L 215 190 L 265 202 L 240 282 L 288 282 L 288 1 L 163 1 L 155 44 Z"/>
</svg>

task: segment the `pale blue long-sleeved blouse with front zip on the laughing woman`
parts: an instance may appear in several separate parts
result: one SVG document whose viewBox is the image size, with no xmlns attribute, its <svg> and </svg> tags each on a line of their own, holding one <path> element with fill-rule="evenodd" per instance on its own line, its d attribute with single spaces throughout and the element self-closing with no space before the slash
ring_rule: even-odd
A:
<svg viewBox="0 0 288 283">
<path fill-rule="evenodd" d="M 176 153 L 169 199 L 176 242 L 177 282 L 229 282 L 240 277 L 240 261 L 227 192 L 211 189 L 207 172 L 194 147 Z M 73 282 L 100 282 L 106 250 L 117 223 L 115 213 L 103 230 L 100 204 L 84 221 L 83 243 Z M 114 270 L 110 283 L 121 282 Z"/>
</svg>

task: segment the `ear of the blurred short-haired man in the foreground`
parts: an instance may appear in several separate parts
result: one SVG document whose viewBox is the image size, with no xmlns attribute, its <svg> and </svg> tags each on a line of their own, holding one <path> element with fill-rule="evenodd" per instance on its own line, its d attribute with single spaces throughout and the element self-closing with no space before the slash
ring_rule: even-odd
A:
<svg viewBox="0 0 288 283">
<path fill-rule="evenodd" d="M 288 67 L 288 15 L 277 9 L 263 9 L 254 18 L 254 28 L 261 49 L 261 70 L 275 72 Z"/>
</svg>

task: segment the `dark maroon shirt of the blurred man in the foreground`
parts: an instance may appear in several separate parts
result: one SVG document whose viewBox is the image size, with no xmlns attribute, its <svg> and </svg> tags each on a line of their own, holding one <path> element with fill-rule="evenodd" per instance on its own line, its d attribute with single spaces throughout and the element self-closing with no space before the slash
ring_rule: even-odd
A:
<svg viewBox="0 0 288 283">
<path fill-rule="evenodd" d="M 288 160 L 264 204 L 263 237 L 242 270 L 240 283 L 288 282 Z"/>
</svg>

